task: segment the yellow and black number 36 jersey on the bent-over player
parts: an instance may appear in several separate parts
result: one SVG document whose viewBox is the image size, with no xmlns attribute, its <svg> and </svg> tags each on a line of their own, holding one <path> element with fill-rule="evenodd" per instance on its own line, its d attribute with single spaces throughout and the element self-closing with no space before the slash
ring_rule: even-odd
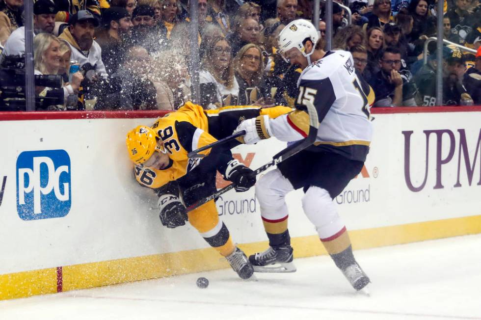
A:
<svg viewBox="0 0 481 320">
<path fill-rule="evenodd" d="M 157 119 L 151 126 L 158 133 L 169 155 L 168 166 L 158 169 L 136 165 L 135 177 L 143 186 L 162 187 L 170 181 L 185 176 L 201 160 L 209 161 L 208 158 L 189 159 L 187 154 L 211 144 L 217 139 L 231 135 L 241 120 L 259 115 L 275 118 L 290 111 L 292 111 L 291 108 L 280 106 L 265 109 L 253 106 L 233 106 L 204 110 L 201 106 L 187 102 L 177 111 Z M 207 149 L 201 154 L 209 155 L 211 150 Z"/>
</svg>

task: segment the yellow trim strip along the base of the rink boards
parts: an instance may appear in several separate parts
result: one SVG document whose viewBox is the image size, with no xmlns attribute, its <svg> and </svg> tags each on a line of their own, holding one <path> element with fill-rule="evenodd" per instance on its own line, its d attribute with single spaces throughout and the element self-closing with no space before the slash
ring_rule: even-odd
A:
<svg viewBox="0 0 481 320">
<path fill-rule="evenodd" d="M 481 233 L 481 215 L 353 230 L 354 249 Z M 325 255 L 317 236 L 291 240 L 294 257 Z M 263 251 L 267 241 L 240 245 L 247 254 Z M 213 248 L 109 260 L 63 267 L 63 291 L 113 285 L 206 270 L 228 268 Z M 57 292 L 56 268 L 0 275 L 0 300 Z"/>
</svg>

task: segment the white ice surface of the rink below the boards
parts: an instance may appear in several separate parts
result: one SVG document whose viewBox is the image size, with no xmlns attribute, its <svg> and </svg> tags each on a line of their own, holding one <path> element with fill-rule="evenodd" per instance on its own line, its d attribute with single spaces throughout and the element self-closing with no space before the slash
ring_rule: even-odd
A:
<svg viewBox="0 0 481 320">
<path fill-rule="evenodd" d="M 355 252 L 371 296 L 355 293 L 328 256 L 297 272 L 230 269 L 0 301 L 0 319 L 481 319 L 481 235 Z M 199 289 L 197 277 L 210 285 Z"/>
</svg>

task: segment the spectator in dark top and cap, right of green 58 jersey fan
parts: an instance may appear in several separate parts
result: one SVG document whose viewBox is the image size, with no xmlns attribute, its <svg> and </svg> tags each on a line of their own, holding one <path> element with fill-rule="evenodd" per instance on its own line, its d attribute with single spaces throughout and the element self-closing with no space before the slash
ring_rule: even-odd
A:
<svg viewBox="0 0 481 320">
<path fill-rule="evenodd" d="M 443 78 L 443 105 L 459 106 L 473 105 L 473 99 L 467 92 L 462 81 L 466 72 L 464 54 L 453 51 L 446 59 L 446 77 Z"/>
</svg>

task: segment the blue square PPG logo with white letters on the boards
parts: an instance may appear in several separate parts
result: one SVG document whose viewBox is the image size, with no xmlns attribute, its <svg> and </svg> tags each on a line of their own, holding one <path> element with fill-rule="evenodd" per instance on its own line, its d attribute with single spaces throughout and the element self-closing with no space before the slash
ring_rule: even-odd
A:
<svg viewBox="0 0 481 320">
<path fill-rule="evenodd" d="M 17 158 L 17 212 L 24 220 L 70 211 L 70 157 L 65 150 L 24 151 Z"/>
</svg>

